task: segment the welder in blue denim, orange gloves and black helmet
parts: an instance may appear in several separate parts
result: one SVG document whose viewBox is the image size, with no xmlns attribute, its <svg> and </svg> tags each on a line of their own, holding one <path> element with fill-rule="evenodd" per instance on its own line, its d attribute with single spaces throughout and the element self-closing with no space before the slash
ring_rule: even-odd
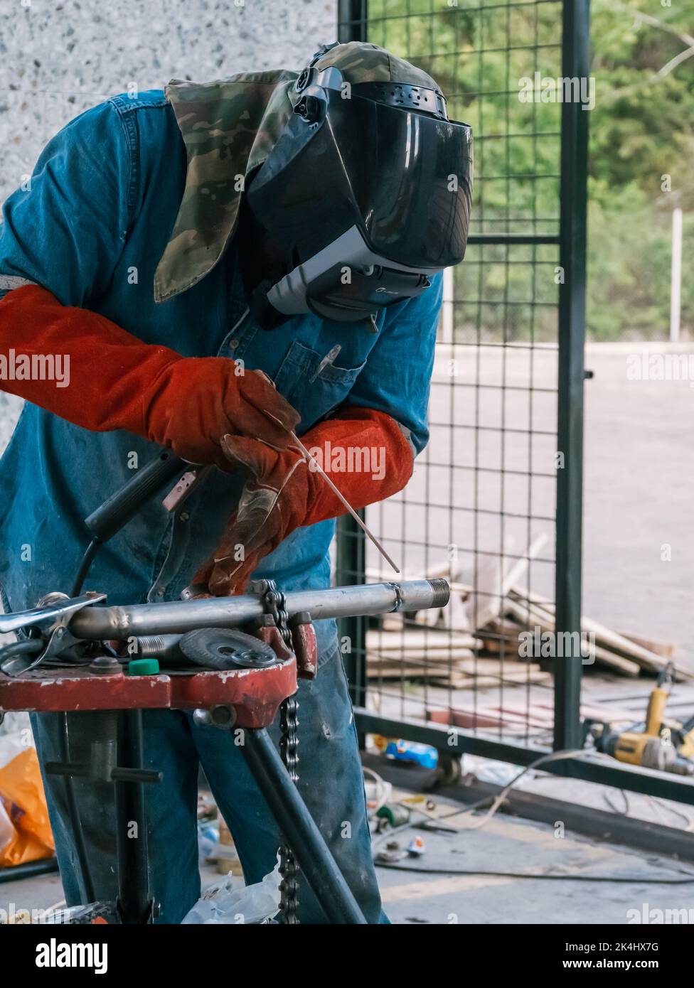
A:
<svg viewBox="0 0 694 988">
<path fill-rule="evenodd" d="M 111 604 L 329 585 L 344 512 L 293 445 L 379 452 L 332 479 L 356 508 L 409 479 L 426 407 L 444 268 L 468 235 L 472 134 L 423 70 L 373 44 L 324 45 L 278 70 L 118 96 L 67 124 L 4 206 L 0 355 L 26 399 L 0 464 L 5 610 L 67 590 L 82 520 L 162 447 L 214 464 L 171 513 L 154 499 L 95 560 Z M 59 357 L 60 380 L 50 379 Z M 15 362 L 16 363 L 16 362 Z M 68 374 L 65 374 L 65 369 Z M 364 462 L 363 458 L 359 462 Z M 385 921 L 342 648 L 317 621 L 319 669 L 299 691 L 300 788 L 369 922 Z M 59 714 L 33 726 L 60 758 Z M 84 760 L 90 714 L 68 717 Z M 144 712 L 152 891 L 159 922 L 200 894 L 199 765 L 245 880 L 272 870 L 277 828 L 229 736 Z M 44 777 L 68 905 L 85 901 L 64 780 Z M 111 788 L 76 780 L 92 891 L 113 898 Z M 302 922 L 325 922 L 310 890 Z"/>
</svg>

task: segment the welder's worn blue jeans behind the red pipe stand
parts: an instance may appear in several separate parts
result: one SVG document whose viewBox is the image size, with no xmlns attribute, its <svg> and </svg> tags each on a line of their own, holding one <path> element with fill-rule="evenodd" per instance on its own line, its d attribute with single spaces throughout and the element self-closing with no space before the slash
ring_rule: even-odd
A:
<svg viewBox="0 0 694 988">
<path fill-rule="evenodd" d="M 371 837 L 357 734 L 338 651 L 320 666 L 316 679 L 299 688 L 299 788 L 367 921 L 388 922 L 372 863 Z M 39 757 L 60 758 L 61 714 L 33 714 Z M 69 715 L 70 761 L 87 761 L 95 714 Z M 279 718 L 278 718 L 279 719 Z M 260 881 L 276 864 L 280 834 L 253 781 L 233 733 L 193 722 L 190 712 L 145 710 L 145 767 L 163 772 L 145 785 L 151 892 L 160 904 L 159 923 L 180 923 L 200 896 L 198 870 L 198 766 L 202 764 L 238 851 L 247 884 Z M 277 739 L 279 726 L 270 729 Z M 68 905 L 86 901 L 69 818 L 64 780 L 44 776 L 50 824 Z M 97 900 L 117 892 L 113 786 L 75 779 Z M 299 916 L 326 923 L 304 878 Z"/>
</svg>

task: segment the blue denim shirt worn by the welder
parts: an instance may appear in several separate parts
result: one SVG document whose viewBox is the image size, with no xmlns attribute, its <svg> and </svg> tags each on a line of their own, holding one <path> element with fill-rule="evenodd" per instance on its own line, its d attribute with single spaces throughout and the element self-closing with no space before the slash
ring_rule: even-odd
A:
<svg viewBox="0 0 694 988">
<path fill-rule="evenodd" d="M 264 332 L 250 316 L 241 318 L 247 306 L 237 270 L 242 248 L 232 244 L 198 285 L 155 304 L 154 270 L 185 177 L 183 140 L 163 93 L 118 96 L 89 110 L 46 145 L 31 188 L 6 202 L 0 276 L 42 285 L 63 304 L 100 312 L 146 343 L 186 357 L 243 360 L 248 370 L 266 371 L 300 412 L 300 433 L 346 402 L 389 413 L 411 431 L 419 452 L 428 438 L 440 278 L 419 298 L 382 312 L 378 334 L 313 315 Z M 338 363 L 311 382 L 337 342 Z M 25 405 L 0 461 L 6 608 L 32 606 L 48 591 L 69 591 L 88 542 L 83 519 L 155 453 L 130 433 L 88 432 Z M 214 550 L 239 488 L 237 477 L 212 471 L 173 516 L 153 499 L 101 549 L 88 589 L 108 593 L 111 604 L 177 598 Z M 272 576 L 286 590 L 328 586 L 333 532 L 334 522 L 299 529 L 255 575 Z M 323 654 L 332 653 L 333 622 L 319 624 Z"/>
</svg>

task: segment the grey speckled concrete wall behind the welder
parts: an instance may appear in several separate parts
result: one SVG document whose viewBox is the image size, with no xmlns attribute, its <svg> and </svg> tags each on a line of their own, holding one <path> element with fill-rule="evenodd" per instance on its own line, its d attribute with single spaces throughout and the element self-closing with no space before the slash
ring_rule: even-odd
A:
<svg viewBox="0 0 694 988">
<path fill-rule="evenodd" d="M 0 201 L 56 130 L 131 82 L 301 67 L 335 41 L 336 11 L 336 0 L 3 0 Z M 18 408 L 0 393 L 0 450 Z"/>
</svg>

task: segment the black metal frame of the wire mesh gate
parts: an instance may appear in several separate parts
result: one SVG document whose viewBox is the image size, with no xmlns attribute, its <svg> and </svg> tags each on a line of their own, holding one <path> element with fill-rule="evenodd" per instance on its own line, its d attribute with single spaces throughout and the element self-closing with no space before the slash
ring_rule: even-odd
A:
<svg viewBox="0 0 694 988">
<path fill-rule="evenodd" d="M 374 0 L 374 2 L 380 3 L 379 10 L 385 11 L 383 0 Z M 340 41 L 364 41 L 369 38 L 368 6 L 368 0 L 338 0 L 338 37 Z M 501 16 L 501 9 L 504 8 L 508 17 L 509 8 L 521 7 L 528 9 L 532 7 L 532 4 L 521 2 L 487 4 L 484 0 L 478 0 L 475 3 L 471 0 L 470 3 L 467 3 L 466 0 L 459 0 L 455 10 L 482 18 L 494 16 L 493 11 L 496 8 L 499 9 L 499 16 Z M 403 11 L 392 13 L 392 8 L 390 8 L 388 14 L 384 13 L 384 16 L 380 18 L 380 22 L 383 24 L 397 19 L 411 19 L 414 22 L 415 20 L 424 20 L 427 16 L 431 20 L 433 20 L 434 15 L 445 16 L 438 6 L 434 7 L 433 3 L 430 7 L 430 13 L 427 15 L 419 0 L 416 0 L 416 18 L 412 13 L 411 0 L 407 3 L 406 8 L 403 0 Z M 570 0 L 570 2 L 564 0 L 562 3 L 561 43 L 562 75 L 564 77 L 584 78 L 589 76 L 589 27 L 589 0 Z M 417 29 L 413 28 L 413 30 Z M 432 29 L 430 28 L 429 31 L 431 35 Z M 407 28 L 407 37 L 409 38 L 409 28 Z M 535 45 L 536 49 L 542 46 L 537 38 Z M 551 46 L 558 47 L 559 45 L 546 45 L 546 47 Z M 440 47 L 440 44 L 430 46 L 432 52 L 436 51 L 435 57 L 448 54 L 448 52 L 441 52 Z M 484 48 L 484 45 L 482 44 L 480 47 Z M 501 55 L 508 57 L 508 51 L 501 51 Z M 405 52 L 405 57 L 407 56 L 408 54 Z M 491 57 L 493 58 L 494 55 L 492 54 Z M 436 73 L 434 72 L 434 74 Z M 484 89 L 482 85 L 477 88 L 480 91 Z M 507 94 L 492 95 L 503 98 Z M 537 135 L 531 134 L 529 136 L 534 139 Z M 504 248 L 506 251 L 506 276 L 508 276 L 509 263 L 513 263 L 513 261 L 509 262 L 508 252 L 518 245 L 530 245 L 533 248 L 531 262 L 533 265 L 537 258 L 535 251 L 541 246 L 551 245 L 557 248 L 559 252 L 559 265 L 564 281 L 559 288 L 558 309 L 557 450 L 564 454 L 564 464 L 562 468 L 557 470 L 556 478 L 556 555 L 554 560 L 556 628 L 558 631 L 580 633 L 588 114 L 581 109 L 578 103 L 563 103 L 561 134 L 557 134 L 557 136 L 561 138 L 558 232 L 547 231 L 546 223 L 544 224 L 545 228 L 538 232 L 540 220 L 536 219 L 534 215 L 532 232 L 528 234 L 514 234 L 508 230 L 513 220 L 506 224 L 507 232 L 499 234 L 488 232 L 488 224 L 485 228 L 482 223 L 480 224 L 482 226 L 481 231 L 479 233 L 473 231 L 471 234 L 469 244 L 472 247 L 476 245 L 500 245 Z M 484 135 L 482 139 L 486 139 Z M 508 133 L 506 139 L 508 140 Z M 493 177 L 494 179 L 504 179 L 504 176 L 495 175 Z M 555 178 L 555 176 L 538 177 Z M 506 177 L 506 181 L 508 181 L 508 177 Z M 509 215 L 508 210 L 506 215 Z M 479 262 L 479 264 L 482 263 Z M 505 302 L 505 304 L 507 303 Z M 529 347 L 531 350 L 533 340 L 534 337 L 531 335 Z M 505 335 L 503 343 L 506 343 Z M 531 377 L 531 390 L 532 387 Z M 532 424 L 530 432 L 532 434 Z M 434 465 L 445 464 L 436 463 Z M 503 555 L 503 548 L 501 554 Z M 355 582 L 360 575 L 363 578 L 365 558 L 363 535 L 350 519 L 341 520 L 338 526 L 337 582 Z M 368 689 L 366 633 L 368 627 L 369 622 L 365 618 L 352 618 L 349 622 L 343 622 L 341 625 L 341 634 L 346 636 L 344 640 L 349 643 L 346 649 L 343 648 L 343 651 L 347 651 L 345 665 L 351 684 L 352 701 L 355 704 L 357 726 L 362 733 L 374 732 L 387 737 L 402 737 L 433 745 L 448 753 L 460 755 L 470 753 L 524 766 L 530 765 L 551 751 L 572 751 L 582 748 L 579 723 L 580 657 L 555 660 L 553 690 L 555 717 L 552 747 L 533 743 L 529 736 L 523 739 L 523 743 L 519 743 L 517 739 L 508 743 L 501 736 L 495 739 L 480 736 L 473 730 L 441 727 L 424 720 L 418 721 L 408 718 L 404 713 L 399 717 L 393 717 L 368 710 L 366 706 Z M 501 670 L 503 670 L 503 648 L 504 645 L 501 643 Z M 435 662 L 433 665 L 435 666 Z M 477 676 L 477 672 L 474 675 Z M 503 672 L 500 674 L 499 682 L 503 684 Z M 616 785 L 694 804 L 694 783 L 664 773 L 633 768 L 616 761 L 606 762 L 604 759 L 595 757 L 570 757 L 548 764 L 547 771 L 564 777 Z"/>
</svg>

